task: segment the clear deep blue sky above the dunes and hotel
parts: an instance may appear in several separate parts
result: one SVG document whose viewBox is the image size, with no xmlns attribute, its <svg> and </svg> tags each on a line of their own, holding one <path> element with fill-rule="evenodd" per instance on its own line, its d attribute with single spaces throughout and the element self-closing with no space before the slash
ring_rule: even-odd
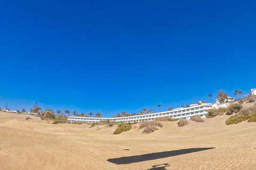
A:
<svg viewBox="0 0 256 170">
<path fill-rule="evenodd" d="M 256 88 L 256 1 L 0 1 L 0 107 L 158 112 Z"/>
</svg>

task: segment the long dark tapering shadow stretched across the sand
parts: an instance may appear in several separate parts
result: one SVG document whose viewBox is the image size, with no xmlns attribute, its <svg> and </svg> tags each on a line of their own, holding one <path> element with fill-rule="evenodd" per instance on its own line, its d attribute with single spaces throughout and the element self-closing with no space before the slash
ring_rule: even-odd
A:
<svg viewBox="0 0 256 170">
<path fill-rule="evenodd" d="M 167 158 L 167 157 L 178 156 L 183 154 L 189 154 L 189 153 L 209 150 L 209 149 L 214 149 L 214 148 L 190 148 L 190 149 L 180 149 L 180 150 L 172 150 L 172 151 L 165 151 L 165 152 L 156 152 L 153 154 L 108 159 L 108 162 L 114 163 L 117 165 L 131 164 L 131 163 L 143 162 L 146 160 L 154 160 L 154 159 Z"/>
</svg>

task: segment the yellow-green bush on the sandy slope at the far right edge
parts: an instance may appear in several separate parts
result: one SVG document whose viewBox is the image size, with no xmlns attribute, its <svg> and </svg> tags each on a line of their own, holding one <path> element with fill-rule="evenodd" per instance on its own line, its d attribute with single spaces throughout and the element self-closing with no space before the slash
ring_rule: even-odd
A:
<svg viewBox="0 0 256 170">
<path fill-rule="evenodd" d="M 256 121 L 256 104 L 254 104 L 252 107 L 242 109 L 238 114 L 229 117 L 226 120 L 226 125 L 237 124 L 247 120 L 248 122 Z"/>
</svg>

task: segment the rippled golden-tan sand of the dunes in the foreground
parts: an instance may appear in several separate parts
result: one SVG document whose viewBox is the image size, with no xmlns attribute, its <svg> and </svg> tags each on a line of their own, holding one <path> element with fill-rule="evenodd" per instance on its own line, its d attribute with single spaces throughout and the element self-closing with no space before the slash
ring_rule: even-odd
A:
<svg viewBox="0 0 256 170">
<path fill-rule="evenodd" d="M 36 116 L 0 112 L 0 169 L 256 169 L 256 123 L 162 122 L 143 134 L 138 125 L 89 128 L 51 124 Z M 158 165 L 158 166 L 157 166 Z M 164 167 L 164 168 L 163 168 Z"/>
</svg>

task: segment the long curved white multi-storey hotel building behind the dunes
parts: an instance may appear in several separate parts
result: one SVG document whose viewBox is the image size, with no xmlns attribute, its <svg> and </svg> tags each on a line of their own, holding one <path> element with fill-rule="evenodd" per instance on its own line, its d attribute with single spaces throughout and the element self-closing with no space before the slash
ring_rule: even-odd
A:
<svg viewBox="0 0 256 170">
<path fill-rule="evenodd" d="M 184 108 L 177 108 L 172 111 L 167 112 L 160 112 L 160 113 L 153 113 L 153 114 L 145 114 L 145 115 L 136 115 L 136 116 L 129 116 L 129 117 L 113 117 L 113 118 L 102 118 L 102 117 L 74 117 L 69 116 L 68 121 L 70 122 L 82 122 L 82 123 L 97 123 L 101 120 L 110 119 L 114 122 L 127 122 L 127 123 L 133 123 L 133 122 L 141 122 L 141 121 L 152 121 L 156 117 L 164 117 L 169 116 L 172 118 L 182 118 L 186 117 L 186 119 L 189 119 L 190 116 L 194 115 L 200 115 L 201 117 L 205 118 L 205 115 L 207 114 L 208 109 L 212 108 L 212 104 L 202 104 L 202 105 L 190 105 L 190 107 L 184 107 Z"/>
</svg>

